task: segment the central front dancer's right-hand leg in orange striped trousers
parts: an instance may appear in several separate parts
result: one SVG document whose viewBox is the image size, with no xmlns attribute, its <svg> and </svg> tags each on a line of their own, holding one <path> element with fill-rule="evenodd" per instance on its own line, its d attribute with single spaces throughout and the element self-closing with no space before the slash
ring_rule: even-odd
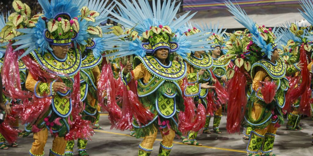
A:
<svg viewBox="0 0 313 156">
<path fill-rule="evenodd" d="M 167 132 L 168 129 L 162 129 L 163 132 Z M 162 141 L 160 143 L 160 149 L 158 156 L 168 156 L 173 148 L 173 140 L 175 137 L 175 131 L 173 129 L 169 129 L 169 134 L 165 135 L 161 132 Z"/>
</svg>

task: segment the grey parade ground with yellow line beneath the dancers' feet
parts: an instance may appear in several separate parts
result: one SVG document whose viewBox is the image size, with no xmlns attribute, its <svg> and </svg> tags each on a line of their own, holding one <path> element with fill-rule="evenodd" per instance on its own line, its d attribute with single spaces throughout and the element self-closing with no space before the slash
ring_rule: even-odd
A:
<svg viewBox="0 0 313 156">
<path fill-rule="evenodd" d="M 107 114 L 101 114 L 99 124 L 103 130 L 95 130 L 91 141 L 88 141 L 87 152 L 90 156 L 136 156 L 138 154 L 138 144 L 142 139 L 136 139 L 129 135 L 129 131 L 110 130 L 110 123 Z M 301 120 L 304 130 L 291 131 L 286 130 L 286 121 L 278 131 L 275 137 L 274 152 L 279 156 L 311 156 L 313 146 L 311 145 L 313 121 L 310 118 Z M 210 126 L 213 125 L 211 119 Z M 226 117 L 222 117 L 220 130 L 222 134 L 201 134 L 198 142 L 203 146 L 185 145 L 180 139 L 174 139 L 174 148 L 171 156 L 244 156 L 248 140 L 243 140 L 243 134 L 228 134 L 225 129 Z M 21 126 L 20 129 L 23 127 Z M 52 147 L 52 137 L 49 137 L 45 146 L 45 155 L 49 155 L 49 149 Z M 151 156 L 156 156 L 159 151 L 161 134 L 153 145 Z M 33 135 L 18 139 L 18 147 L 10 147 L 8 150 L 0 150 L 1 156 L 25 156 L 33 142 Z M 76 149 L 76 141 L 75 147 Z M 74 150 L 74 156 L 78 156 Z"/>
</svg>

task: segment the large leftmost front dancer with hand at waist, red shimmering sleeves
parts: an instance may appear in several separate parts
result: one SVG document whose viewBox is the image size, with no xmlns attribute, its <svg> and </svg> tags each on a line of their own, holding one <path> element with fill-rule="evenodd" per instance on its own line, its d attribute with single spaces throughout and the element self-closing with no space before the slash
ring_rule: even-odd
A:
<svg viewBox="0 0 313 156">
<path fill-rule="evenodd" d="M 38 2 L 43 7 L 44 14 L 33 19 L 37 22 L 34 28 L 17 29 L 24 35 L 13 38 L 19 41 L 12 45 L 19 46 L 14 49 L 15 52 L 12 52 L 10 46 L 7 50 L 11 50 L 8 58 L 16 59 L 18 54 L 26 64 L 29 74 L 25 86 L 34 92 L 29 103 L 16 106 L 15 110 L 20 113 L 22 124 L 28 123 L 29 126 L 26 127 L 34 133 L 30 155 L 44 155 L 48 131 L 54 136 L 50 155 L 63 155 L 67 143 L 65 139 L 88 138 L 92 135 L 90 121 L 82 120 L 79 115 L 82 108 L 79 94 L 81 53 L 80 50 L 70 47 L 71 41 L 78 37 L 80 27 L 77 17 L 86 2 Z M 23 3 L 14 4 L 20 9 L 18 6 Z M 24 52 L 24 49 L 27 50 Z M 8 64 L 11 65 L 10 62 Z M 16 65 L 8 66 L 9 70 L 5 71 L 5 75 L 14 66 Z M 19 79 L 19 76 L 16 78 Z"/>
</svg>

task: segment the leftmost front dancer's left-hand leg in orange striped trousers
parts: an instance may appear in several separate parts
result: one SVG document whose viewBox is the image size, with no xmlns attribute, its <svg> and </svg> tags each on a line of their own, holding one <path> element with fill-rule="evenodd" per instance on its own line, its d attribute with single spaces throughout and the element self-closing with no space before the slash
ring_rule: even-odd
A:
<svg viewBox="0 0 313 156">
<path fill-rule="evenodd" d="M 39 132 L 34 133 L 33 139 L 35 140 L 33 142 L 32 148 L 29 150 L 29 154 L 31 156 L 43 156 L 44 155 L 44 146 L 46 145 L 47 139 L 48 139 L 48 129 L 44 128 L 40 130 Z"/>
</svg>

